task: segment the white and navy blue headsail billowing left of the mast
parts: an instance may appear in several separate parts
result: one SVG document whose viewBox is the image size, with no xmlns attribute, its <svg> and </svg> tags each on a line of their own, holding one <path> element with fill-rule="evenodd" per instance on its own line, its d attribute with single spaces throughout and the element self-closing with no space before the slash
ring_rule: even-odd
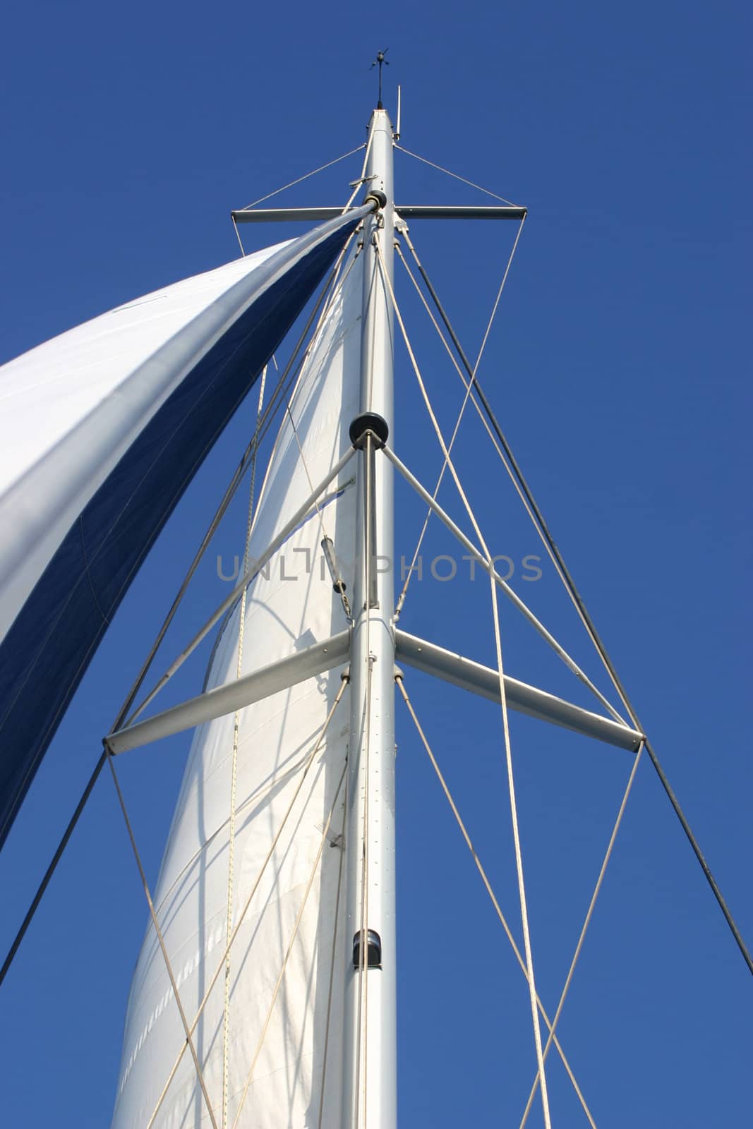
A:
<svg viewBox="0 0 753 1129">
<path fill-rule="evenodd" d="M 367 211 L 0 369 L 0 846 L 155 537 Z"/>
</svg>

